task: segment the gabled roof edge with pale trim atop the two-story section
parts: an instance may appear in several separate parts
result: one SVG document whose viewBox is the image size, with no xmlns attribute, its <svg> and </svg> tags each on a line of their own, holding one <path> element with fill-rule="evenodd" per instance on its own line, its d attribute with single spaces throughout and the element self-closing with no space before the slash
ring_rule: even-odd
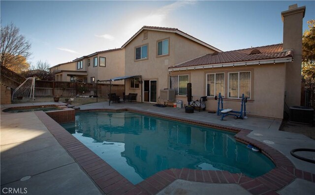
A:
<svg viewBox="0 0 315 195">
<path fill-rule="evenodd" d="M 134 35 L 132 35 L 127 41 L 126 43 L 124 43 L 124 45 L 122 46 L 122 48 L 124 48 L 134 37 L 136 37 L 141 31 L 143 30 L 153 30 L 153 31 L 172 31 L 174 33 L 178 33 L 178 34 L 181 34 L 181 35 L 184 35 L 186 37 L 188 37 L 189 39 L 191 40 L 194 40 L 196 42 L 199 42 L 201 43 L 202 45 L 205 45 L 209 48 L 212 48 L 213 50 L 217 50 L 217 51 L 221 51 L 220 49 L 212 46 L 212 45 L 209 45 L 208 43 L 206 42 L 203 42 L 202 40 L 198 39 L 198 38 L 195 38 L 193 36 L 191 36 L 190 34 L 186 33 L 186 32 L 183 32 L 183 31 L 180 31 L 179 29 L 176 29 L 176 28 L 167 28 L 167 27 L 153 27 L 153 26 L 143 26 L 138 32 L 136 32 Z"/>
</svg>

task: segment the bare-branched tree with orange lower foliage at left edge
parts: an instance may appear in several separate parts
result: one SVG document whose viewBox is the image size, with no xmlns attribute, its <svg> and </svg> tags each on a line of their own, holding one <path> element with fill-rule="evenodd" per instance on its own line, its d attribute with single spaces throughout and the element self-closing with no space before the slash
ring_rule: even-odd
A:
<svg viewBox="0 0 315 195">
<path fill-rule="evenodd" d="M 0 65 L 13 71 L 29 68 L 27 59 L 31 56 L 31 43 L 20 34 L 20 29 L 12 23 L 1 27 Z"/>
</svg>

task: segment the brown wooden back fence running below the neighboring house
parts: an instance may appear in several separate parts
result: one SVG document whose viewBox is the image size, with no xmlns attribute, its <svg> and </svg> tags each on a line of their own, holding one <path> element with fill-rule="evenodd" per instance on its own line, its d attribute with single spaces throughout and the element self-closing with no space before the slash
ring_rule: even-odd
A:
<svg viewBox="0 0 315 195">
<path fill-rule="evenodd" d="M 35 81 L 35 96 L 37 97 L 71 97 L 82 96 L 102 96 L 102 87 L 109 88 L 110 84 L 104 83 L 81 83 L 63 81 Z M 106 89 L 104 88 L 104 89 Z M 124 85 L 112 85 L 112 90 L 117 91 L 124 88 Z"/>
</svg>

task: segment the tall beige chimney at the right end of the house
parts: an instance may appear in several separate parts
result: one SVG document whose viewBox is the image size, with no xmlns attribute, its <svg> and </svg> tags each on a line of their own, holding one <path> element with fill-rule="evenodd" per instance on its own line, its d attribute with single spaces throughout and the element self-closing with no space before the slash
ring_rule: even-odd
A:
<svg viewBox="0 0 315 195">
<path fill-rule="evenodd" d="M 285 102 L 287 105 L 301 104 L 301 66 L 302 66 L 302 35 L 305 6 L 297 4 L 289 6 L 287 11 L 281 12 L 284 23 L 283 49 L 293 50 L 293 62 L 286 63 Z"/>
</svg>

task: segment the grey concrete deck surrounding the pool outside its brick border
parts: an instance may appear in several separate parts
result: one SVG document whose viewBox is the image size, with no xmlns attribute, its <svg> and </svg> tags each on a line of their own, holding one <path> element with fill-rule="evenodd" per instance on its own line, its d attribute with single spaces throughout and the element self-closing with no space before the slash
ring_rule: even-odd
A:
<svg viewBox="0 0 315 195">
<path fill-rule="evenodd" d="M 10 105 L 5 107 L 8 106 Z M 19 105 L 14 104 L 14 106 Z M 1 108 L 3 107 L 1 105 Z M 304 135 L 279 131 L 280 120 L 257 117 L 234 120 L 228 116 L 224 118 L 224 121 L 221 121 L 221 117 L 205 111 L 195 111 L 193 114 L 188 114 L 185 113 L 184 109 L 159 108 L 148 103 L 113 103 L 109 106 L 108 102 L 100 102 L 82 105 L 80 108 L 81 110 L 128 108 L 170 117 L 176 116 L 201 123 L 210 122 L 218 126 L 252 130 L 248 137 L 260 142 L 267 141 L 268 146 L 286 156 L 296 168 L 293 169 L 293 174 L 295 174 L 294 171 L 302 170 L 302 176 L 295 174 L 296 177 L 294 177 L 293 182 L 276 191 L 277 193 L 313 194 L 315 192 L 315 164 L 295 159 L 289 154 L 294 148 L 315 148 L 315 141 Z M 73 160 L 73 155 L 69 156 L 69 152 L 67 153 L 64 147 L 59 144 L 61 143 L 60 140 L 59 143 L 56 141 L 51 134 L 52 131 L 47 130 L 47 124 L 45 126 L 39 120 L 38 113 L 42 112 L 36 113 L 1 113 L 1 190 L 6 187 L 24 188 L 24 186 L 27 186 L 29 192 L 34 192 L 32 194 L 72 194 L 72 192 L 73 194 L 99 194 L 100 191 L 89 174 L 86 174 L 86 171 L 82 170 L 82 166 L 79 166 L 77 161 Z M 14 136 L 12 136 L 12 132 L 14 132 Z M 245 190 L 244 188 L 244 185 L 248 184 L 246 182 L 244 185 L 191 182 L 180 180 L 182 172 L 177 176 L 175 175 L 173 182 L 166 188 L 161 189 L 159 194 L 204 194 L 205 192 L 207 192 L 206 194 L 211 192 L 212 194 L 221 194 L 222 190 L 235 192 L 234 194 L 249 194 L 248 189 Z M 176 170 L 174 173 L 176 174 Z M 313 173 L 309 181 L 306 178 L 307 173 Z M 20 181 L 22 177 L 28 175 L 32 176 L 31 179 Z M 83 188 L 80 185 L 81 182 L 86 184 L 84 189 L 88 189 L 89 193 L 81 189 Z M 138 186 L 138 189 L 141 189 L 141 185 Z M 211 189 L 211 191 L 209 192 L 206 189 Z"/>
</svg>

